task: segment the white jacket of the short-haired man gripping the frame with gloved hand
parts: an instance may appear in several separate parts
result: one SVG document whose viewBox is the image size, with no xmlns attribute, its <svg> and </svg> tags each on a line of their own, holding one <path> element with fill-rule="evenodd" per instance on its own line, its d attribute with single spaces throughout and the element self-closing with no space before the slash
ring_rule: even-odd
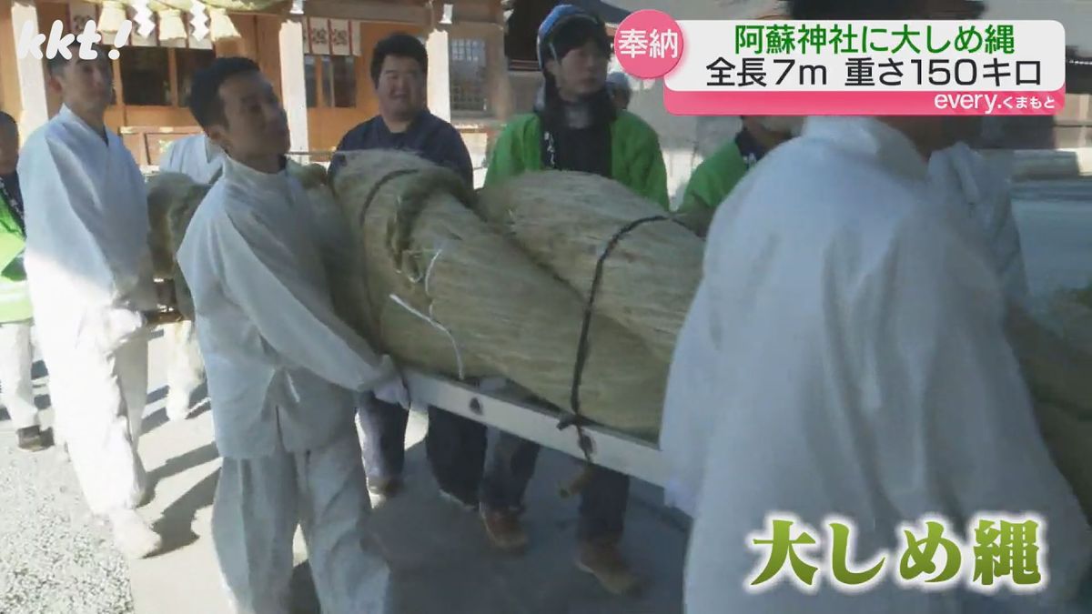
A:
<svg viewBox="0 0 1092 614">
<path fill-rule="evenodd" d="M 392 374 L 334 314 L 319 228 L 299 182 L 229 157 L 178 252 L 207 365 L 216 446 L 229 458 L 320 447 Z"/>
</svg>

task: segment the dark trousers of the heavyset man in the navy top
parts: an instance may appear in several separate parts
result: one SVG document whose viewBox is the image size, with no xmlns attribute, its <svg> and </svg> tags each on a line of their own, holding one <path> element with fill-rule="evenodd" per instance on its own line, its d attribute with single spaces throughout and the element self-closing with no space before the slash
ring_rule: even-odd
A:
<svg viewBox="0 0 1092 614">
<path fill-rule="evenodd" d="M 364 430 L 364 467 L 368 477 L 401 477 L 410 412 L 372 398 L 357 410 L 357 416 Z M 485 465 L 485 425 L 429 406 L 425 451 L 440 488 L 468 503 L 477 500 Z"/>
</svg>

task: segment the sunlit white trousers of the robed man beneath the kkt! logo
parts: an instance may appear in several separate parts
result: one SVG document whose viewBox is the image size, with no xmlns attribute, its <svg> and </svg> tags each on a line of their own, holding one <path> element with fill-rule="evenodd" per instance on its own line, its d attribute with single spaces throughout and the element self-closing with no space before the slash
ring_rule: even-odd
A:
<svg viewBox="0 0 1092 614">
<path fill-rule="evenodd" d="M 68 445 L 87 506 L 103 516 L 135 508 L 145 480 L 136 445 L 147 403 L 147 338 L 108 354 L 71 346 L 44 354 L 54 430 Z"/>
</svg>

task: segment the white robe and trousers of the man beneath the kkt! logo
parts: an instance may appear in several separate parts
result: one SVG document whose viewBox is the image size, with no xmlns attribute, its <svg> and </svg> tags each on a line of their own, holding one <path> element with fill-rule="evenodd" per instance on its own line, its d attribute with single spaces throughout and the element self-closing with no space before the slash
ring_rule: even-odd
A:
<svg viewBox="0 0 1092 614">
<path fill-rule="evenodd" d="M 98 513 L 142 497 L 142 311 L 156 304 L 144 178 L 121 139 L 109 131 L 106 139 L 62 107 L 19 161 L 25 265 L 55 427 Z"/>
</svg>

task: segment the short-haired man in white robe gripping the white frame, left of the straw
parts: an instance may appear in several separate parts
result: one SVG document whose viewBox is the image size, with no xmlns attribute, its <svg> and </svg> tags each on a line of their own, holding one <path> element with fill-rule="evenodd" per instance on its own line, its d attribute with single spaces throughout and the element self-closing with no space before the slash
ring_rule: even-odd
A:
<svg viewBox="0 0 1092 614">
<path fill-rule="evenodd" d="M 191 110 L 227 153 L 178 261 L 193 295 L 223 456 L 213 541 L 238 611 L 287 613 L 301 526 L 323 612 L 388 612 L 385 562 L 368 543 L 355 398 L 407 404 L 389 357 L 334 312 L 335 263 L 286 170 L 284 108 L 258 66 L 219 58 Z"/>
</svg>

